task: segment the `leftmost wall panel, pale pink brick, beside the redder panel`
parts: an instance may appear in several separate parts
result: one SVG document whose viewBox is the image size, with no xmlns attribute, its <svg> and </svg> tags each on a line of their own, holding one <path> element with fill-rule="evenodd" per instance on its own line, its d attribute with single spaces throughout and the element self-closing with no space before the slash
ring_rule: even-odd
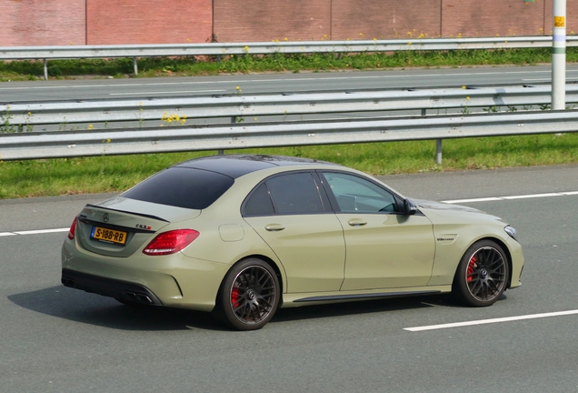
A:
<svg viewBox="0 0 578 393">
<path fill-rule="evenodd" d="M 0 1 L 0 46 L 85 44 L 85 0 Z"/>
</svg>

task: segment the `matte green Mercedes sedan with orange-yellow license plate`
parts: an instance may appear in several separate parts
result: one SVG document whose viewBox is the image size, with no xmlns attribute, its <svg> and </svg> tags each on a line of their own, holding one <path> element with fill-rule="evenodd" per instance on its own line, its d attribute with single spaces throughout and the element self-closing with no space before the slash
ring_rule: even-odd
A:
<svg viewBox="0 0 578 393">
<path fill-rule="evenodd" d="M 62 283 L 126 305 L 211 311 L 263 328 L 278 307 L 451 292 L 490 306 L 520 286 L 501 218 L 413 201 L 344 166 L 207 156 L 86 207 Z"/>
</svg>

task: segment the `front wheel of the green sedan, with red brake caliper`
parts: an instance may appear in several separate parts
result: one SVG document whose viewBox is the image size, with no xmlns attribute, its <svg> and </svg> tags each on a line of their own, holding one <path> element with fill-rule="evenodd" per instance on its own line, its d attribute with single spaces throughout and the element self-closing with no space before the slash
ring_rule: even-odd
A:
<svg viewBox="0 0 578 393">
<path fill-rule="evenodd" d="M 481 240 L 463 254 L 453 277 L 452 293 L 466 306 L 492 306 L 507 287 L 508 277 L 508 260 L 502 247 Z"/>
</svg>

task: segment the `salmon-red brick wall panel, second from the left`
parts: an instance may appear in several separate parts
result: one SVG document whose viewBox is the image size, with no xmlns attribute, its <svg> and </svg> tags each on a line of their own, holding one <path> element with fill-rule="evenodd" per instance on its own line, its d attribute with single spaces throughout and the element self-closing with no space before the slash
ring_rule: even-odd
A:
<svg viewBox="0 0 578 393">
<path fill-rule="evenodd" d="M 88 45 L 211 41 L 212 0 L 85 1 Z"/>
</svg>

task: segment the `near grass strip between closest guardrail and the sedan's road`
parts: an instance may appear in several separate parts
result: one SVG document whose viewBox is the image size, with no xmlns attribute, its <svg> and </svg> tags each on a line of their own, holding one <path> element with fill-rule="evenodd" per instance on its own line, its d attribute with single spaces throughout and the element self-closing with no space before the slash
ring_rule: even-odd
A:
<svg viewBox="0 0 578 393">
<path fill-rule="evenodd" d="M 436 165 L 434 141 L 227 150 L 306 156 L 352 166 L 374 175 L 578 164 L 578 134 L 503 136 L 443 141 Z M 214 152 L 97 156 L 0 162 L 0 198 L 118 192 L 166 166 Z"/>
</svg>

